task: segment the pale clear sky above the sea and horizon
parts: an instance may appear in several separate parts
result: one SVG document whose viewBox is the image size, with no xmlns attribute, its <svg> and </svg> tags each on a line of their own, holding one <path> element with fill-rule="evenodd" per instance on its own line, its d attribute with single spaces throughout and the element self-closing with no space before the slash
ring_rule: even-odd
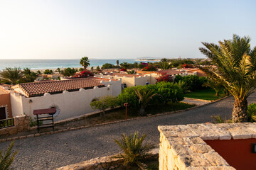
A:
<svg viewBox="0 0 256 170">
<path fill-rule="evenodd" d="M 256 1 L 0 0 L 0 59 L 202 58 L 233 34 L 256 45 Z"/>
</svg>

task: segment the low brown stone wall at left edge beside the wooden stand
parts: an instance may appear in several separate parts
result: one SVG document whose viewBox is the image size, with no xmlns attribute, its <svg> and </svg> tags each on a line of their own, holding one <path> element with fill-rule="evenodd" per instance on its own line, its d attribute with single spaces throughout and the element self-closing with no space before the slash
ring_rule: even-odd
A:
<svg viewBox="0 0 256 170">
<path fill-rule="evenodd" d="M 0 135 L 12 135 L 17 132 L 26 131 L 29 129 L 28 115 L 20 115 L 14 118 L 14 126 L 0 129 Z"/>
</svg>

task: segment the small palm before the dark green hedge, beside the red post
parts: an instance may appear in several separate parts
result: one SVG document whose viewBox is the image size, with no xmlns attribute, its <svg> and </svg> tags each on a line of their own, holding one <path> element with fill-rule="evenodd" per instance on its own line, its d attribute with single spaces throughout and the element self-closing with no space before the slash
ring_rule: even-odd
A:
<svg viewBox="0 0 256 170">
<path fill-rule="evenodd" d="M 156 96 L 156 93 L 154 93 L 153 90 L 149 89 L 134 89 L 134 92 L 139 97 L 139 104 L 141 105 L 141 108 L 139 109 L 139 114 L 143 115 L 146 106 L 148 106 L 151 99 Z"/>
</svg>

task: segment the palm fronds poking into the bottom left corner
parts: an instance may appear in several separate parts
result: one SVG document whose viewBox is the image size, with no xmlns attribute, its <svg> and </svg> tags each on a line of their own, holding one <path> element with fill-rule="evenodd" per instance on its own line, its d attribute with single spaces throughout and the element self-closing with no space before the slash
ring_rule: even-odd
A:
<svg viewBox="0 0 256 170">
<path fill-rule="evenodd" d="M 9 166 L 14 162 L 14 158 L 18 151 L 11 153 L 11 149 L 14 147 L 14 142 L 11 142 L 9 147 L 6 149 L 6 152 L 3 154 L 3 151 L 0 151 L 0 169 L 7 170 Z"/>
</svg>

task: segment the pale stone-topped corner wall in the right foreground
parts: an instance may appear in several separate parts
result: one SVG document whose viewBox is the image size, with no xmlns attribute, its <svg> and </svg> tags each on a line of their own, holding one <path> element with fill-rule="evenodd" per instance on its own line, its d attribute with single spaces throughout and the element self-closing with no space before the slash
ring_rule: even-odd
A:
<svg viewBox="0 0 256 170">
<path fill-rule="evenodd" d="M 159 126 L 160 170 L 234 169 L 203 140 L 256 138 L 255 123 Z"/>
</svg>

